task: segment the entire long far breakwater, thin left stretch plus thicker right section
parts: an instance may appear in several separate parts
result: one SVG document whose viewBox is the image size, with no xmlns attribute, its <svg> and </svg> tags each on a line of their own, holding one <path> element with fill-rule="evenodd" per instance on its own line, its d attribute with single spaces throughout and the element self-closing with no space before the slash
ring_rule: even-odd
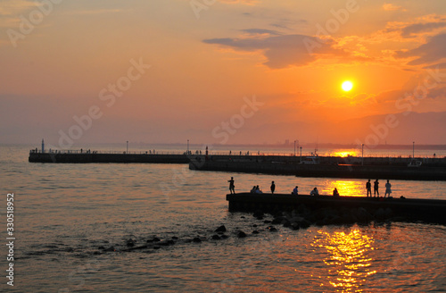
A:
<svg viewBox="0 0 446 293">
<path fill-rule="evenodd" d="M 446 158 L 337 157 L 293 155 L 198 155 L 140 152 L 29 152 L 31 163 L 189 163 L 191 170 L 248 172 L 298 177 L 388 180 L 446 180 Z M 411 162 L 414 164 L 410 166 Z"/>
</svg>

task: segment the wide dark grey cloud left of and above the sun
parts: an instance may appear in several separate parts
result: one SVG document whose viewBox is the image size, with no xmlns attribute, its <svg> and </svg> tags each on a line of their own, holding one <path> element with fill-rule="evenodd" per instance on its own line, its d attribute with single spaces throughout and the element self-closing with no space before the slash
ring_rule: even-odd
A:
<svg viewBox="0 0 446 293">
<path fill-rule="evenodd" d="M 255 30 L 254 30 L 255 31 Z M 262 51 L 268 59 L 265 65 L 271 69 L 303 66 L 312 63 L 323 54 L 345 55 L 335 49 L 332 39 L 320 39 L 305 35 L 283 35 L 268 38 L 211 38 L 206 44 L 228 46 L 240 51 Z"/>
</svg>

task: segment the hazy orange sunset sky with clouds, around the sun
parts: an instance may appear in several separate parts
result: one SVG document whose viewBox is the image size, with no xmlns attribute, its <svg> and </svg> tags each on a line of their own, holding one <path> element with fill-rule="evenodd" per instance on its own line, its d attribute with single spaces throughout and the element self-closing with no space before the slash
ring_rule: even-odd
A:
<svg viewBox="0 0 446 293">
<path fill-rule="evenodd" d="M 41 3 L 0 7 L 0 143 L 446 144 L 442 0 Z"/>
</svg>

